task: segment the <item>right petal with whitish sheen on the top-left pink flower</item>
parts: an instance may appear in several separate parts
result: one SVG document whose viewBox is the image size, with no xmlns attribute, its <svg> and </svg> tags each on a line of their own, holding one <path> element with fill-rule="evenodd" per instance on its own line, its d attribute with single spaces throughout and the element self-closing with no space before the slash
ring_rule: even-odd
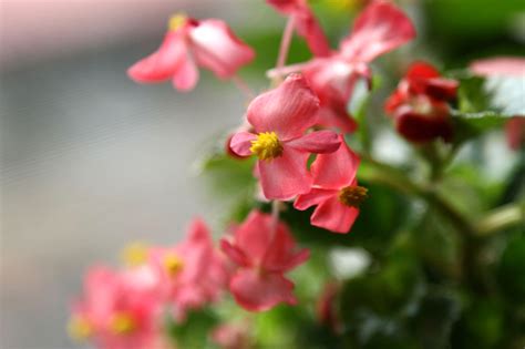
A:
<svg viewBox="0 0 525 349">
<path fill-rule="evenodd" d="M 240 41 L 220 20 L 204 20 L 189 32 L 199 65 L 227 79 L 255 58 L 254 50 Z"/>
</svg>

